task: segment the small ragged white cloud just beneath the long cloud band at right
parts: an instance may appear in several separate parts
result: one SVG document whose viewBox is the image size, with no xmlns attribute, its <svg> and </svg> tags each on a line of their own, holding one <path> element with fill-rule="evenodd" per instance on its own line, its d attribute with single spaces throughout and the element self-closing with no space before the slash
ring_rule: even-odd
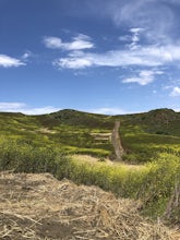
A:
<svg viewBox="0 0 180 240">
<path fill-rule="evenodd" d="M 122 83 L 139 83 L 140 85 L 147 85 L 155 81 L 156 74 L 163 74 L 161 71 L 148 71 L 143 70 L 139 73 L 139 76 L 133 76 L 122 80 Z"/>
</svg>

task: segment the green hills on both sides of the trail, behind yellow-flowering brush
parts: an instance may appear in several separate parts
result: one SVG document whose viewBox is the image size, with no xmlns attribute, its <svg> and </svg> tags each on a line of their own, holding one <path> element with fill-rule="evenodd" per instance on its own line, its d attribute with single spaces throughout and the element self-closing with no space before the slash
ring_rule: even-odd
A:
<svg viewBox="0 0 180 240">
<path fill-rule="evenodd" d="M 148 161 L 165 149 L 180 153 L 180 112 L 171 109 L 121 116 L 72 109 L 41 116 L 0 112 L 0 143 L 16 141 L 39 147 L 58 147 L 69 154 L 113 158 L 110 134 L 116 120 L 121 122 L 124 160 Z"/>
</svg>

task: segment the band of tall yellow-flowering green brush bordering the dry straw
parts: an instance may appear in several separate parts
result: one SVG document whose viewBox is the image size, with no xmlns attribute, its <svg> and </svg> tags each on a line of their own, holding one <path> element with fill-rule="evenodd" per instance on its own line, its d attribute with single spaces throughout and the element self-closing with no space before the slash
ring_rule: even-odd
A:
<svg viewBox="0 0 180 240">
<path fill-rule="evenodd" d="M 142 211 L 152 218 L 163 216 L 180 179 L 180 157 L 159 154 L 140 168 L 106 161 L 88 163 L 71 158 L 60 148 L 34 147 L 16 141 L 0 144 L 0 170 L 14 172 L 51 172 L 77 184 L 98 185 L 117 196 L 141 200 Z M 179 212 L 173 214 L 179 221 Z"/>
</svg>

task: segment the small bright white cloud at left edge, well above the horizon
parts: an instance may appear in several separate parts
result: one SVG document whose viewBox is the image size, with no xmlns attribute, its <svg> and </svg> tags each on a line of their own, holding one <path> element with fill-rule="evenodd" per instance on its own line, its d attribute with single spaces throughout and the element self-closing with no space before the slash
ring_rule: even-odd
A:
<svg viewBox="0 0 180 240">
<path fill-rule="evenodd" d="M 25 65 L 23 61 L 16 58 L 11 58 L 7 55 L 0 55 L 0 67 L 11 68 L 11 67 L 20 67 Z"/>
</svg>

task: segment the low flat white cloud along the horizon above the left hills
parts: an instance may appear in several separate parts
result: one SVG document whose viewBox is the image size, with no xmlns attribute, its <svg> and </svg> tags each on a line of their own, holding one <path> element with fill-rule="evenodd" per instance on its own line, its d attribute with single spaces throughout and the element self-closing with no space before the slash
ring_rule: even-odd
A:
<svg viewBox="0 0 180 240">
<path fill-rule="evenodd" d="M 32 108 L 23 103 L 0 103 L 0 111 L 2 112 L 22 112 L 25 115 L 44 115 L 60 110 L 51 106 L 41 108 Z"/>
</svg>

